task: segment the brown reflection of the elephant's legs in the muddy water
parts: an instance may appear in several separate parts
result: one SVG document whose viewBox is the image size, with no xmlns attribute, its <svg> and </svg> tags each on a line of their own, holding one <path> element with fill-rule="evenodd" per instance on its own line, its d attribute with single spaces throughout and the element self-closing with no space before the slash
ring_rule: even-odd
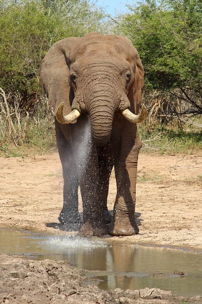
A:
<svg viewBox="0 0 202 304">
<path fill-rule="evenodd" d="M 135 289 L 135 278 L 126 277 L 126 272 L 136 269 L 137 254 L 138 250 L 134 246 L 113 245 L 68 250 L 62 259 L 72 266 L 90 270 L 95 276 L 104 279 L 104 289 Z"/>
</svg>

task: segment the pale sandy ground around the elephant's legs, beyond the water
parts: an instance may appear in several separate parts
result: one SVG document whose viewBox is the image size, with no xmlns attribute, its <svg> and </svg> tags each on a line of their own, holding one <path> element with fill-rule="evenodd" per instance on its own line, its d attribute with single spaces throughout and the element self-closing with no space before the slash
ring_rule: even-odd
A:
<svg viewBox="0 0 202 304">
<path fill-rule="evenodd" d="M 63 178 L 57 153 L 0 158 L 0 226 L 56 233 Z M 110 178 L 109 210 L 116 185 Z M 79 204 L 82 211 L 81 200 Z M 110 241 L 202 248 L 202 155 L 140 154 L 137 182 L 139 235 Z"/>
</svg>

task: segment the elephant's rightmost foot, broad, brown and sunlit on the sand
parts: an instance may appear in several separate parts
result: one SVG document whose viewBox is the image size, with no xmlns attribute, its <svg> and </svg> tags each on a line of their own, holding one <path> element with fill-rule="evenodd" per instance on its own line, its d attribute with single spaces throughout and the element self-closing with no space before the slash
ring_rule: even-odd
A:
<svg viewBox="0 0 202 304">
<path fill-rule="evenodd" d="M 139 233 L 138 225 L 135 219 L 132 221 L 115 217 L 109 225 L 109 234 L 112 236 L 132 236 Z"/>
</svg>

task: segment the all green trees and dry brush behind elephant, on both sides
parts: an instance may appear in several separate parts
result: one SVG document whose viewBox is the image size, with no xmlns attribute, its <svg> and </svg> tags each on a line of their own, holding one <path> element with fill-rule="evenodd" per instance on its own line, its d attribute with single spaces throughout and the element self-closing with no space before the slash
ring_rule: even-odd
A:
<svg viewBox="0 0 202 304">
<path fill-rule="evenodd" d="M 0 87 L 8 103 L 5 107 L 0 94 L 3 150 L 8 150 L 10 135 L 15 148 L 20 148 L 20 131 L 24 132 L 21 136 L 24 144 L 36 145 L 40 118 L 46 122 L 42 125 L 48 124 L 44 120 L 48 107 L 41 99 L 37 72 L 50 47 L 68 36 L 83 36 L 90 31 L 112 32 L 113 24 L 114 33 L 128 36 L 140 54 L 145 69 L 143 98 L 150 118 L 155 116 L 153 124 L 170 122 L 179 113 L 202 113 L 202 2 L 141 0 L 128 7 L 130 13 L 119 15 L 110 23 L 103 11 L 88 0 L 0 0 Z M 48 121 L 52 122 L 48 113 Z M 10 134 L 8 118 L 13 122 L 15 134 Z M 47 142 L 50 133 L 44 133 L 45 137 L 49 134 Z M 201 148 L 192 133 L 190 138 Z M 165 132 L 160 133 L 160 137 L 163 135 Z M 168 145 L 174 137 L 179 139 L 177 133 L 166 135 Z M 197 138 L 200 136 L 198 133 Z M 187 148 L 192 148 L 190 140 L 184 135 L 183 138 L 189 143 Z"/>
</svg>

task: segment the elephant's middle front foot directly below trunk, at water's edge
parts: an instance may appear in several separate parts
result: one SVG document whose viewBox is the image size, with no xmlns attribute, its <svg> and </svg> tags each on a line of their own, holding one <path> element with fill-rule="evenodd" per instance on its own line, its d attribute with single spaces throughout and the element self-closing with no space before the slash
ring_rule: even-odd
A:
<svg viewBox="0 0 202 304">
<path fill-rule="evenodd" d="M 107 226 L 104 222 L 94 222 L 94 221 L 87 221 L 85 222 L 78 234 L 83 237 L 101 237 L 108 233 Z"/>
</svg>

